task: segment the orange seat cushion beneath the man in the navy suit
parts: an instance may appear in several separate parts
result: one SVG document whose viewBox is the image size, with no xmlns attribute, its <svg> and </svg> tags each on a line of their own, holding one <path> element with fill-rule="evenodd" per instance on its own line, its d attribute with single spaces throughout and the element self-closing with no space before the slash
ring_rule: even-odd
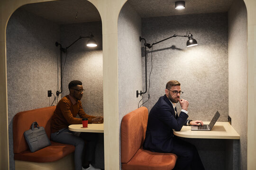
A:
<svg viewBox="0 0 256 170">
<path fill-rule="evenodd" d="M 122 163 L 122 169 L 172 170 L 176 160 L 177 156 L 173 153 L 156 153 L 141 147 L 128 163 Z"/>
</svg>

